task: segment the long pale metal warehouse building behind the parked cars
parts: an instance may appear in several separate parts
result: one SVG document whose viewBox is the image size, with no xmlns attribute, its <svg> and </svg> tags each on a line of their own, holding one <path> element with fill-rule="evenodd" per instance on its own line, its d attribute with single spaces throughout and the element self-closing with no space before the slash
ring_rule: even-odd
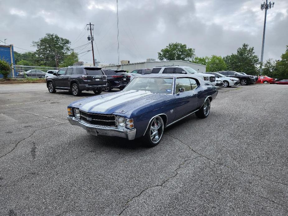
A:
<svg viewBox="0 0 288 216">
<path fill-rule="evenodd" d="M 148 60 L 148 59 L 147 59 Z M 111 66 L 103 66 L 102 68 L 106 69 L 122 69 L 129 72 L 132 72 L 136 69 L 141 68 L 149 68 L 152 69 L 156 66 L 164 66 L 164 65 L 178 65 L 178 66 L 187 66 L 191 67 L 199 73 L 206 72 L 206 66 L 202 64 L 195 64 L 191 62 L 186 62 L 182 60 L 174 60 L 174 61 L 146 61 L 146 62 L 137 62 L 137 63 L 129 63 L 129 64 L 119 64 L 119 65 L 111 65 Z"/>
</svg>

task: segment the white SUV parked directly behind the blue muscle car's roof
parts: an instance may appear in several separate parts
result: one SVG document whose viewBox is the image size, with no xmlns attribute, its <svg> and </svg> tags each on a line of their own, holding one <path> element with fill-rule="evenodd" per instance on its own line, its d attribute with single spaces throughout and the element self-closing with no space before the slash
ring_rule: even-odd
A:
<svg viewBox="0 0 288 216">
<path fill-rule="evenodd" d="M 151 73 L 186 73 L 186 74 L 193 74 L 201 79 L 205 80 L 207 83 L 211 85 L 216 85 L 216 77 L 211 74 L 207 73 L 197 73 L 196 70 L 185 67 L 185 66 L 160 66 L 154 67 Z"/>
</svg>

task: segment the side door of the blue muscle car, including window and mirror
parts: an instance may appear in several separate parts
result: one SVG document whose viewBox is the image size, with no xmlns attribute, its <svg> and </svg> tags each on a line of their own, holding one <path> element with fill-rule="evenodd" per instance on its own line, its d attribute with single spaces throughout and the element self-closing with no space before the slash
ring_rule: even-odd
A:
<svg viewBox="0 0 288 216">
<path fill-rule="evenodd" d="M 192 81 L 192 84 L 191 84 Z M 175 85 L 175 120 L 178 120 L 197 108 L 198 94 L 194 90 L 196 81 L 188 77 L 176 78 Z M 197 83 L 196 83 L 197 86 Z M 192 89 L 193 87 L 193 89 Z M 184 92 L 179 92 L 180 88 L 184 88 Z"/>
</svg>

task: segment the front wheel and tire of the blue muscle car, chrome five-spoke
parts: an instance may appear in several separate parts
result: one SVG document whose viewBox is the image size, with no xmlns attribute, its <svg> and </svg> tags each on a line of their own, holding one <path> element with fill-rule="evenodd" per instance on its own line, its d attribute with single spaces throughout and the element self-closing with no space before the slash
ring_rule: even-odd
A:
<svg viewBox="0 0 288 216">
<path fill-rule="evenodd" d="M 156 122 L 156 124 L 155 124 L 155 122 Z M 155 129 L 153 129 L 153 128 L 155 128 Z M 159 133 L 160 133 L 160 136 L 159 136 Z M 156 116 L 149 123 L 146 134 L 144 135 L 144 137 L 146 139 L 146 145 L 148 147 L 157 146 L 160 143 L 160 141 L 163 137 L 163 134 L 164 134 L 164 121 L 161 118 L 161 116 Z"/>
</svg>

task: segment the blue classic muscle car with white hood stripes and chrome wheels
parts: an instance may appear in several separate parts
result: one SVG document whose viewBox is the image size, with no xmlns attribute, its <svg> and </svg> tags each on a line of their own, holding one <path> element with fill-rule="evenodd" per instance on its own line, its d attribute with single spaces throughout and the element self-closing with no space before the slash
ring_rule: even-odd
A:
<svg viewBox="0 0 288 216">
<path fill-rule="evenodd" d="M 89 134 L 144 137 L 157 145 L 164 128 L 192 113 L 206 118 L 215 86 L 188 74 L 149 74 L 135 77 L 123 91 L 102 94 L 71 103 L 68 120 Z"/>
</svg>

